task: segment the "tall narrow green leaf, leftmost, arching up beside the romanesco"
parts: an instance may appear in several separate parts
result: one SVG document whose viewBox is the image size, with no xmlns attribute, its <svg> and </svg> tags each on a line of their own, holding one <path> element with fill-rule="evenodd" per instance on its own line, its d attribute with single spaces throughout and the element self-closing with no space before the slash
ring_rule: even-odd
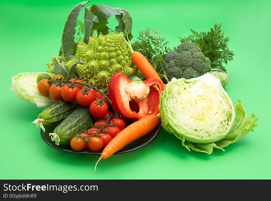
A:
<svg viewBox="0 0 271 201">
<path fill-rule="evenodd" d="M 83 6 L 88 2 L 90 1 L 81 2 L 73 7 L 65 23 L 61 39 L 61 50 L 66 60 L 68 60 L 68 57 L 73 53 L 75 27 L 77 25 L 78 15 Z"/>
</svg>

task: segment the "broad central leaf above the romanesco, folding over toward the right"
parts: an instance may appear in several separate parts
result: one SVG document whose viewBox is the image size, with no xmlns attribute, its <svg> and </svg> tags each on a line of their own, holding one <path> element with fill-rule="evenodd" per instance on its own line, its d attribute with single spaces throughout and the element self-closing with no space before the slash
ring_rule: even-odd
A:
<svg viewBox="0 0 271 201">
<path fill-rule="evenodd" d="M 103 4 L 97 4 L 97 5 L 92 5 L 91 8 L 91 13 L 97 16 L 98 23 L 93 22 L 93 30 L 97 31 L 97 34 L 99 35 L 102 33 L 103 35 L 106 35 L 109 33 L 109 29 L 107 27 L 108 24 L 108 19 L 112 15 L 120 15 L 115 9 L 105 6 Z"/>
</svg>

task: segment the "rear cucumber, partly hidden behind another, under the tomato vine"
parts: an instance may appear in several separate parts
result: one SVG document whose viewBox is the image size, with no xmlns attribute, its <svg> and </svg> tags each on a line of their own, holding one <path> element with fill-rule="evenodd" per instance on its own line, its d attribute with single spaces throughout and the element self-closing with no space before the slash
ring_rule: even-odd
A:
<svg viewBox="0 0 271 201">
<path fill-rule="evenodd" d="M 77 106 L 78 104 L 76 102 L 66 102 L 60 99 L 43 110 L 38 115 L 38 119 L 44 119 L 44 126 L 56 126 L 71 114 Z"/>
</svg>

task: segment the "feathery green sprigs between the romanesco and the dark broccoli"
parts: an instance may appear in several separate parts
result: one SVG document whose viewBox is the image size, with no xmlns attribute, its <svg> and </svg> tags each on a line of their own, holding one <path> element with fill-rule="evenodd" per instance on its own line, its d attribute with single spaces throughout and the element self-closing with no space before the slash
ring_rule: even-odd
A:
<svg viewBox="0 0 271 201">
<path fill-rule="evenodd" d="M 133 50 L 141 52 L 156 72 L 164 77 L 164 55 L 171 49 L 167 46 L 169 42 L 164 37 L 160 37 L 159 30 L 154 30 L 153 33 L 150 32 L 149 28 L 141 30 L 137 40 L 131 45 Z"/>
</svg>

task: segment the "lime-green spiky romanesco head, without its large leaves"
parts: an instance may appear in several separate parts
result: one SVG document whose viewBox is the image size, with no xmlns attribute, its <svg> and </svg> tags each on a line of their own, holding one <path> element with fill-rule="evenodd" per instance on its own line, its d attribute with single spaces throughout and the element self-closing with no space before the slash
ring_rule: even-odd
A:
<svg viewBox="0 0 271 201">
<path fill-rule="evenodd" d="M 76 75 L 82 76 L 85 83 L 90 81 L 99 89 L 106 89 L 111 76 L 116 72 L 122 72 L 127 77 L 133 75 L 142 76 L 136 65 L 131 60 L 131 50 L 122 34 L 93 35 L 88 44 L 81 39 L 77 45 L 75 58 L 68 61 L 66 66 L 76 61 L 84 61 L 85 64 L 77 64 Z M 53 66 L 53 64 L 52 64 Z M 48 71 L 53 67 L 48 65 Z"/>
</svg>

